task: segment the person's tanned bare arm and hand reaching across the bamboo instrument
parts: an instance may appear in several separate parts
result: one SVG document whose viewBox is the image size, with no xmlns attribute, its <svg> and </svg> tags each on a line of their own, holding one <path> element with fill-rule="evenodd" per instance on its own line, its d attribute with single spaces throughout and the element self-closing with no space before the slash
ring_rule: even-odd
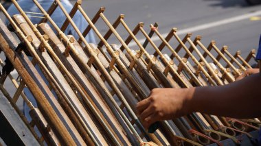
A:
<svg viewBox="0 0 261 146">
<path fill-rule="evenodd" d="M 261 116 L 261 76 L 250 75 L 225 86 L 156 88 L 137 104 L 144 127 L 155 121 L 203 112 L 234 118 Z"/>
</svg>

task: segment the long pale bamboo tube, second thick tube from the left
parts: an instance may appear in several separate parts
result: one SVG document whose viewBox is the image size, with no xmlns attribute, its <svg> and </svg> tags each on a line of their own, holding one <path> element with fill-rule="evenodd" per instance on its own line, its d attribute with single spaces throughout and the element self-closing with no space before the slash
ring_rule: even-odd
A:
<svg viewBox="0 0 261 146">
<path fill-rule="evenodd" d="M 13 18 L 14 18 L 14 21 L 19 25 L 19 27 L 21 27 L 21 29 L 23 29 L 23 32 L 25 35 L 28 35 L 28 34 L 32 35 L 32 38 L 33 38 L 32 45 L 34 45 L 34 48 L 37 51 L 41 42 L 34 35 L 34 32 L 32 32 L 32 29 L 28 29 L 29 25 L 27 25 L 25 20 L 20 15 L 15 15 L 15 16 L 13 16 Z M 87 128 L 86 124 L 87 123 L 89 124 L 91 119 L 85 121 L 85 123 L 82 121 L 82 117 L 88 117 L 88 115 L 87 115 L 87 112 L 84 112 L 84 108 L 80 105 L 76 95 L 73 93 L 73 90 L 70 90 L 69 85 L 67 84 L 67 82 L 65 82 L 65 78 L 63 78 L 63 75 L 58 71 L 58 68 L 56 67 L 54 62 L 52 62 L 52 58 L 49 57 L 48 53 L 47 52 L 38 52 L 38 54 L 39 54 L 39 56 L 41 56 L 42 60 L 45 60 L 45 64 L 49 68 L 49 71 L 52 72 L 52 75 L 54 77 L 56 77 L 56 79 L 52 79 L 52 81 L 50 81 L 49 83 L 56 84 L 55 85 L 56 87 L 53 86 L 53 88 L 58 88 L 59 89 L 58 93 L 63 93 L 62 94 L 63 97 L 58 96 L 59 100 L 62 101 L 63 103 L 67 103 L 67 106 L 70 106 L 70 108 L 72 108 L 74 110 L 74 111 L 71 111 L 71 110 L 69 110 L 69 108 L 67 108 L 70 111 L 70 112 L 69 111 L 67 111 L 67 112 L 69 112 L 72 117 L 75 117 L 72 115 L 72 112 L 74 112 L 78 116 L 78 119 L 80 119 L 80 121 L 78 121 L 76 119 L 76 117 L 72 119 L 74 122 L 76 122 L 78 124 L 78 125 L 76 125 L 78 127 L 78 130 L 81 130 L 80 127 L 82 127 L 82 124 L 84 125 L 83 127 L 86 129 Z M 54 82 L 54 80 L 56 80 L 57 83 Z M 63 88 L 63 89 L 61 89 L 61 88 Z M 56 90 L 58 90 L 58 89 L 56 89 Z M 76 102 L 76 103 L 73 103 L 73 102 Z M 67 107 L 65 105 L 63 105 L 63 106 Z M 77 112 L 76 112 L 76 109 L 78 110 Z M 82 114 L 82 113 L 84 113 L 84 115 L 82 115 L 80 117 L 80 114 Z M 81 124 L 79 122 L 81 122 Z M 87 128 L 87 129 L 88 129 L 87 131 L 89 131 L 89 128 Z M 81 133 L 84 134 L 84 139 L 89 139 L 89 136 L 87 136 L 87 134 L 84 131 L 81 130 Z M 89 132 L 89 134 L 91 134 L 91 133 Z M 89 141 L 89 143 L 91 143 L 91 142 Z"/>
</svg>

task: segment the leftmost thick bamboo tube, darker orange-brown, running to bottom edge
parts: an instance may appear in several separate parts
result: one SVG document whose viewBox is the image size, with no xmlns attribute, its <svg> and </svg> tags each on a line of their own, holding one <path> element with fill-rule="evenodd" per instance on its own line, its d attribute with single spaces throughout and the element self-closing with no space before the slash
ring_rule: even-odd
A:
<svg viewBox="0 0 261 146">
<path fill-rule="evenodd" d="M 6 15 L 7 12 L 4 10 L 3 5 L 0 5 L 0 8 L 1 8 L 2 12 L 4 12 Z M 12 19 L 10 19 L 10 17 L 9 17 L 9 21 L 10 20 L 12 20 Z M 1 22 L 0 24 L 1 24 L 1 29 L 3 29 L 3 32 L 5 32 L 5 34 L 8 34 L 8 31 L 7 31 L 6 27 L 3 25 L 3 23 Z M 18 29 L 16 30 L 16 32 L 19 32 Z M 41 89 L 36 85 L 36 82 L 34 82 L 33 78 L 29 75 L 29 73 L 27 71 L 24 71 L 24 69 L 22 67 L 23 64 L 21 62 L 22 58 L 18 54 L 16 54 L 16 56 L 14 55 L 14 52 L 12 52 L 9 48 L 9 47 L 11 47 L 10 43 L 8 44 L 8 42 L 5 41 L 5 39 L 8 39 L 8 38 L 3 38 L 4 36 L 2 36 L 2 35 L 3 34 L 1 34 L 2 50 L 5 52 L 7 57 L 11 60 L 12 64 L 14 64 L 14 66 L 16 67 L 16 70 L 21 74 L 21 77 L 23 77 L 23 79 L 26 79 L 25 83 L 32 91 L 34 97 L 36 97 L 36 101 L 38 101 L 39 106 L 41 106 L 41 108 L 43 108 L 43 113 L 45 113 L 45 115 L 47 115 L 47 117 L 49 117 L 47 119 L 47 121 L 49 121 L 49 123 L 52 123 L 51 127 L 54 130 L 54 132 L 56 133 L 56 135 L 58 136 L 58 138 L 60 138 L 61 142 L 65 145 L 75 144 L 75 142 L 69 135 L 69 132 L 67 132 L 67 130 L 65 130 L 66 129 L 65 125 L 63 125 L 62 121 L 60 121 L 57 114 L 54 112 L 54 110 L 48 103 L 47 99 L 45 99 L 45 95 L 43 93 L 41 93 Z M 9 37 L 10 36 L 12 36 L 12 35 L 10 34 Z M 27 42 L 27 40 L 25 40 L 25 42 Z M 13 43 L 16 43 L 16 42 L 14 42 L 14 40 L 13 40 Z M 28 42 L 27 44 L 30 44 L 30 42 Z M 16 44 L 14 44 L 14 45 L 16 45 Z M 13 50 L 14 50 L 14 45 L 12 46 Z M 25 56 L 25 54 L 24 54 L 24 56 Z M 12 58 L 17 58 L 17 59 L 13 60 Z M 26 59 L 25 59 L 25 61 L 26 61 Z M 30 71 L 30 70 L 28 69 L 28 71 Z"/>
</svg>

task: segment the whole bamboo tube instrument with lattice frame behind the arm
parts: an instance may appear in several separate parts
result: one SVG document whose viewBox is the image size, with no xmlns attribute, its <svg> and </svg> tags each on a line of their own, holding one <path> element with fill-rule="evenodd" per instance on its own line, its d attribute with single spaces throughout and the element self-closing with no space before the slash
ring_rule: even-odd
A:
<svg viewBox="0 0 261 146">
<path fill-rule="evenodd" d="M 30 21 L 16 1 L 12 3 L 21 14 L 14 16 L 0 5 L 10 22 L 6 27 L 0 21 L 0 48 L 21 78 L 15 80 L 10 71 L 3 73 L 0 89 L 39 145 L 140 145 L 149 141 L 157 145 L 222 145 L 220 141 L 226 138 L 240 143 L 235 136 L 247 134 L 252 138 L 248 132 L 258 130 L 260 120 L 257 118 L 231 119 L 195 112 L 159 121 L 154 124 L 155 132 L 151 133 L 144 130 L 135 114 L 137 102 L 148 97 L 153 88 L 222 86 L 234 82 L 243 71 L 251 69 L 249 62 L 255 62 L 254 50 L 244 60 L 240 51 L 233 56 L 227 46 L 218 49 L 215 41 L 206 47 L 201 36 L 192 40 L 192 34 L 188 33 L 181 39 L 177 28 L 163 38 L 157 23 L 150 25 L 148 34 L 143 23 L 131 30 L 124 15 L 112 24 L 104 15 L 104 8 L 90 19 L 81 1 L 77 1 L 69 13 L 59 0 L 55 0 L 47 12 L 38 1 L 33 1 L 44 16 L 38 24 Z M 50 17 L 58 7 L 67 17 L 62 27 Z M 77 11 L 89 23 L 84 32 L 72 21 Z M 95 27 L 99 19 L 109 28 L 104 36 Z M 63 33 L 69 24 L 77 32 L 78 39 Z M 120 26 L 128 33 L 125 40 L 117 31 Z M 84 39 L 91 29 L 98 36 L 98 45 Z M 10 30 L 19 38 L 19 44 Z M 137 36 L 146 41 L 139 42 Z M 120 43 L 110 44 L 112 37 Z M 160 44 L 152 37 L 158 37 Z M 130 42 L 135 42 L 135 47 L 129 47 Z M 3 61 L 1 65 L 4 66 Z M 4 87 L 8 76 L 16 88 L 13 97 Z M 30 89 L 38 107 L 27 99 L 24 88 Z M 30 107 L 32 121 L 27 121 L 17 108 L 19 98 Z"/>
</svg>

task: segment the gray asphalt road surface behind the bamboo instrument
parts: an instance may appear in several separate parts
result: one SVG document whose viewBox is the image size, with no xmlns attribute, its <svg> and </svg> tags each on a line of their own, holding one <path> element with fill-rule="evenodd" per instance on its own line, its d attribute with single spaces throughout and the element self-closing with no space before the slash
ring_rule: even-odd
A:
<svg viewBox="0 0 261 146">
<path fill-rule="evenodd" d="M 74 1 L 71 1 L 74 3 Z M 111 23 L 117 19 L 120 14 L 125 14 L 125 21 L 133 29 L 137 23 L 144 22 L 144 29 L 148 32 L 151 23 L 159 23 L 159 32 L 166 34 L 172 27 L 179 30 L 212 23 L 223 19 L 233 18 L 249 12 L 260 10 L 261 6 L 249 6 L 244 0 L 89 0 L 82 1 L 82 7 L 90 18 L 93 18 L 100 7 L 104 6 L 105 16 Z M 1 15 L 1 18 L 3 16 Z M 202 42 L 208 45 L 210 40 L 216 40 L 217 46 L 228 45 L 229 50 L 235 53 L 242 51 L 242 56 L 246 56 L 251 49 L 257 49 L 261 30 L 261 21 L 250 21 L 245 19 L 235 23 L 228 23 L 218 27 L 203 29 L 193 32 L 196 35 L 203 36 Z M 100 20 L 96 24 L 100 32 L 105 34 L 108 27 Z M 126 38 L 127 33 L 121 31 L 120 34 Z M 181 35 L 181 38 L 183 35 Z M 119 43 L 116 38 L 111 38 L 109 43 Z M 150 52 L 152 53 L 152 51 Z M 2 58 L 3 60 L 3 58 Z M 12 90 L 14 88 L 8 81 L 5 87 Z M 21 106 L 19 102 L 19 107 Z"/>
</svg>

